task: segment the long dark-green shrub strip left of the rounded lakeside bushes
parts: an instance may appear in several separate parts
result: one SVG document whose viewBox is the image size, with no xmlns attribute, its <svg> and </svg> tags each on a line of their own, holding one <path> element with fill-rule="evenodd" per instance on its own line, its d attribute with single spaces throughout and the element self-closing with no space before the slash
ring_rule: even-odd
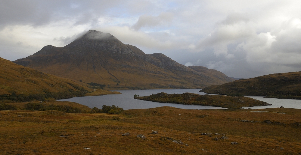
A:
<svg viewBox="0 0 301 155">
<path fill-rule="evenodd" d="M 83 111 L 77 107 L 67 106 L 67 105 L 43 105 L 41 103 L 27 103 L 24 105 L 26 110 L 38 110 L 38 111 L 47 111 L 47 110 L 57 110 L 61 112 L 68 113 L 82 113 Z M 85 112 L 85 111 L 84 111 Z"/>
</svg>

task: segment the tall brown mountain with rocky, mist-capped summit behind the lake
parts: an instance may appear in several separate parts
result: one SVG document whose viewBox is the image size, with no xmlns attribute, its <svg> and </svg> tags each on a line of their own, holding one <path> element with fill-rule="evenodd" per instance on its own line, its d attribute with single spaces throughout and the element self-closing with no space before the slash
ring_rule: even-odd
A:
<svg viewBox="0 0 301 155">
<path fill-rule="evenodd" d="M 225 78 L 216 80 L 220 73 L 198 72 L 160 53 L 145 54 L 111 34 L 95 30 L 67 46 L 48 45 L 14 63 L 81 85 L 93 82 L 109 90 L 202 88 L 229 82 Z"/>
</svg>

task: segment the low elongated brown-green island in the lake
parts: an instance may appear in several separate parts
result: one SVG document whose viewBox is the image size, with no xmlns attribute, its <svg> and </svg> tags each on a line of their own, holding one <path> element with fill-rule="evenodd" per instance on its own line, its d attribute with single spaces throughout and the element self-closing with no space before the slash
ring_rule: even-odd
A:
<svg viewBox="0 0 301 155">
<path fill-rule="evenodd" d="M 199 95 L 193 93 L 166 94 L 162 92 L 150 96 L 143 96 L 143 97 L 136 96 L 134 98 L 138 100 L 146 100 L 146 101 L 153 101 L 153 102 L 217 106 L 217 107 L 231 108 L 231 109 L 241 108 L 241 107 L 270 105 L 266 102 L 255 100 L 250 97 Z"/>
</svg>

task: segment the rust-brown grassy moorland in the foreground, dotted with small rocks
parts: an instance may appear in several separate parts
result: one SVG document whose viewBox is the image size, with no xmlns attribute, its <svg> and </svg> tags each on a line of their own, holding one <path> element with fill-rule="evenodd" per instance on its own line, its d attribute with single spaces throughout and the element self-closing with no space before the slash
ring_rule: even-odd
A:
<svg viewBox="0 0 301 155">
<path fill-rule="evenodd" d="M 268 112 L 172 107 L 125 110 L 119 115 L 0 111 L 0 152 L 3 155 L 301 154 L 301 138 L 296 136 L 300 133 L 301 110 L 258 110 Z M 121 120 L 115 121 L 113 116 Z M 158 134 L 152 134 L 153 131 Z M 122 136 L 124 133 L 129 135 Z M 139 134 L 146 138 L 138 138 Z M 220 139 L 222 136 L 228 139 Z"/>
</svg>

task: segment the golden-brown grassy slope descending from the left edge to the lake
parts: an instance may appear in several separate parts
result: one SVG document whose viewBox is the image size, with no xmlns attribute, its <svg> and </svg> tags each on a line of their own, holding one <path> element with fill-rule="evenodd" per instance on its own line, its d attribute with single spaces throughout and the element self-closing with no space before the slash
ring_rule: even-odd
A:
<svg viewBox="0 0 301 155">
<path fill-rule="evenodd" d="M 0 58 L 0 102 L 25 102 L 44 98 L 88 96 L 93 89 Z M 103 90 L 103 94 L 112 94 Z"/>
</svg>

